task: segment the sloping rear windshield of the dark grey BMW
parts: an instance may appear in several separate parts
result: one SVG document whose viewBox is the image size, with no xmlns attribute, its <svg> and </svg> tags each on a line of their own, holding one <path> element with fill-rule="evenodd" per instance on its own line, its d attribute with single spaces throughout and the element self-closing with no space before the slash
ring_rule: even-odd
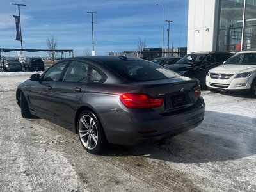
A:
<svg viewBox="0 0 256 192">
<path fill-rule="evenodd" d="M 153 81 L 179 77 L 179 74 L 172 70 L 148 61 L 118 61 L 105 63 L 105 65 L 129 81 Z"/>
</svg>

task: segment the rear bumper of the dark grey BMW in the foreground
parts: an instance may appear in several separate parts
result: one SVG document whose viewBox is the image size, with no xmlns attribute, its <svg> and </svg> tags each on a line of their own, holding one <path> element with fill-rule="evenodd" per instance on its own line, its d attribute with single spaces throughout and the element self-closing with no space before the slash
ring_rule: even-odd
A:
<svg viewBox="0 0 256 192">
<path fill-rule="evenodd" d="M 120 145 L 138 145 L 164 138 L 170 138 L 181 132 L 200 125 L 204 120 L 205 104 L 202 97 L 196 106 L 182 113 L 161 116 L 154 110 L 127 109 L 100 114 L 109 143 Z M 140 133 L 140 132 L 152 133 Z"/>
</svg>

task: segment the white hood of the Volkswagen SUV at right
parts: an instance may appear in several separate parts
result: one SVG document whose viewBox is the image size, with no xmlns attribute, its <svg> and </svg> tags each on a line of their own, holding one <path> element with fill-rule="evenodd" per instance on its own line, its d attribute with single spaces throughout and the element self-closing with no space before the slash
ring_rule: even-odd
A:
<svg viewBox="0 0 256 192">
<path fill-rule="evenodd" d="M 216 68 L 212 68 L 210 72 L 218 74 L 237 74 L 239 72 L 249 72 L 254 70 L 256 70 L 256 65 L 223 64 Z"/>
</svg>

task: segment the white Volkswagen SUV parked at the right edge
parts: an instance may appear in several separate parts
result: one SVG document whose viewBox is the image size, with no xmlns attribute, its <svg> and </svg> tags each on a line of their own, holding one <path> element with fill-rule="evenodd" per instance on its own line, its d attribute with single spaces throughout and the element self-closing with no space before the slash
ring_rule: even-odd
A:
<svg viewBox="0 0 256 192">
<path fill-rule="evenodd" d="M 206 84 L 211 92 L 250 92 L 256 97 L 256 51 L 241 51 L 223 65 L 209 70 Z"/>
</svg>

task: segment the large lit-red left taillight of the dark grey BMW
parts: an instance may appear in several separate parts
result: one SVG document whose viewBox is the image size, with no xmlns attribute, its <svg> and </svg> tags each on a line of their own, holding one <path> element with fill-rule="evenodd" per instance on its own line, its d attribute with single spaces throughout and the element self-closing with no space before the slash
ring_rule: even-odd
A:
<svg viewBox="0 0 256 192">
<path fill-rule="evenodd" d="M 146 94 L 124 93 L 120 100 L 127 108 L 156 108 L 163 104 L 163 97 L 151 97 Z"/>
</svg>

